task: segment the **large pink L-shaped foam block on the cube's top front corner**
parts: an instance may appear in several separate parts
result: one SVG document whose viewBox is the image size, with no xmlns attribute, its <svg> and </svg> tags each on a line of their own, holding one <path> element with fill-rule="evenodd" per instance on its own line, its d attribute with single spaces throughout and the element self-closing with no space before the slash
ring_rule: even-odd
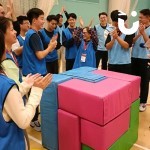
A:
<svg viewBox="0 0 150 150">
<path fill-rule="evenodd" d="M 58 85 L 59 108 L 105 125 L 130 107 L 129 85 L 113 78 L 97 83 L 72 79 Z"/>
</svg>

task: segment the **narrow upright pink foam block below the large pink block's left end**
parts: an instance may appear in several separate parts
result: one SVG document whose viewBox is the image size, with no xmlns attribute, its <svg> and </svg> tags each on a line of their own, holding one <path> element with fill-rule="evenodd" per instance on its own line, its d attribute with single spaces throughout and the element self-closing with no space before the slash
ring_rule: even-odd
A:
<svg viewBox="0 0 150 150">
<path fill-rule="evenodd" d="M 79 117 L 58 110 L 59 150 L 81 150 Z"/>
</svg>

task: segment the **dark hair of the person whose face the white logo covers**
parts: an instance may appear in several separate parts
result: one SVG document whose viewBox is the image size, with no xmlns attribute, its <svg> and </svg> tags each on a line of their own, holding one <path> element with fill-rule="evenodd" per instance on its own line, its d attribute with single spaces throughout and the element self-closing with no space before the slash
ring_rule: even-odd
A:
<svg viewBox="0 0 150 150">
<path fill-rule="evenodd" d="M 111 12 L 110 17 L 112 21 L 118 22 L 118 18 L 123 19 L 124 21 L 127 20 L 127 15 L 119 15 L 120 12 L 118 10 L 114 10 Z"/>
</svg>

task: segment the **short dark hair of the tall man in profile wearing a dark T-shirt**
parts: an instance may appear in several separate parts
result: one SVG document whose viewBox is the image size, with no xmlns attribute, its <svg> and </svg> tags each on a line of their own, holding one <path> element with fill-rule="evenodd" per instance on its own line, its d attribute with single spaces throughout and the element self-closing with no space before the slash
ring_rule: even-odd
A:
<svg viewBox="0 0 150 150">
<path fill-rule="evenodd" d="M 31 8 L 27 12 L 27 17 L 28 17 L 30 24 L 32 24 L 33 19 L 37 19 L 40 15 L 44 15 L 43 10 L 39 8 Z"/>
</svg>

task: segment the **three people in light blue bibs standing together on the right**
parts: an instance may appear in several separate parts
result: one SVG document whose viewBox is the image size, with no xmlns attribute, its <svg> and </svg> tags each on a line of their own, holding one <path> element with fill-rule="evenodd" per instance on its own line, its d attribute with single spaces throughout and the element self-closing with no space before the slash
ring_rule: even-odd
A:
<svg viewBox="0 0 150 150">
<path fill-rule="evenodd" d="M 107 69 L 108 53 L 109 71 L 141 77 L 139 110 L 143 112 L 146 110 L 150 78 L 149 50 L 145 46 L 145 43 L 150 40 L 150 9 L 143 9 L 139 12 L 139 29 L 131 35 L 121 33 L 118 27 L 118 18 L 123 19 L 124 26 L 127 27 L 127 15 L 119 15 L 119 11 L 114 10 L 110 17 L 113 29 L 112 27 L 107 28 L 109 25 L 106 23 L 105 26 L 102 23 L 95 26 L 99 39 L 96 60 L 98 60 L 98 57 L 102 58 L 102 69 Z M 100 13 L 99 18 L 100 22 L 102 22 L 102 19 L 107 20 L 107 14 Z M 104 47 L 101 48 L 102 46 Z M 97 62 L 98 66 L 99 60 Z"/>
</svg>

